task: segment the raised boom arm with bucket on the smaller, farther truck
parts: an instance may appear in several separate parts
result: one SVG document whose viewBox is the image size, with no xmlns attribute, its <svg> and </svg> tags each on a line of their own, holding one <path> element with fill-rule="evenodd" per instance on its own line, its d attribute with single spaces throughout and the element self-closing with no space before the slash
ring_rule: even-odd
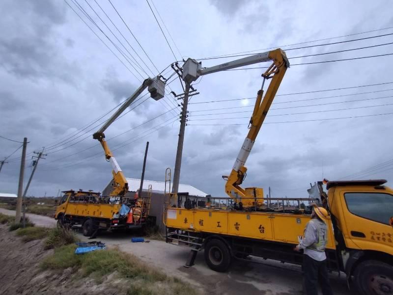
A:
<svg viewBox="0 0 393 295">
<path fill-rule="evenodd" d="M 120 168 L 120 165 L 117 163 L 116 159 L 113 157 L 113 154 L 105 140 L 105 130 L 121 115 L 121 113 L 127 109 L 148 87 L 148 91 L 150 92 L 150 96 L 155 100 L 159 100 L 164 97 L 165 94 L 165 82 L 156 77 L 154 79 L 146 79 L 142 82 L 142 85 L 127 99 L 125 102 L 116 110 L 114 114 L 105 122 L 105 124 L 93 134 L 94 139 L 98 139 L 104 148 L 105 159 L 110 161 L 112 164 L 112 175 L 113 175 L 113 188 L 110 193 L 111 196 L 123 196 L 128 191 L 128 182 L 123 174 L 123 171 Z"/>
</svg>

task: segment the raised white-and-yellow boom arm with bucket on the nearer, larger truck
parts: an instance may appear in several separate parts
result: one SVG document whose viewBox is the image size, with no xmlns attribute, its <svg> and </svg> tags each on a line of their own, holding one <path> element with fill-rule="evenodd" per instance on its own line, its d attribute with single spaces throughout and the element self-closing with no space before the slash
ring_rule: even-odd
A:
<svg viewBox="0 0 393 295">
<path fill-rule="evenodd" d="M 247 168 L 244 166 L 244 164 L 246 163 L 247 158 L 250 155 L 256 136 L 258 135 L 258 132 L 263 124 L 267 112 L 272 105 L 274 97 L 276 96 L 277 90 L 280 86 L 281 80 L 284 77 L 285 71 L 289 67 L 289 61 L 285 53 L 281 49 L 276 49 L 273 51 L 254 54 L 248 57 L 225 62 L 220 65 L 204 69 L 202 69 L 200 63 L 193 59 L 188 59 L 183 66 L 183 80 L 185 80 L 186 82 L 192 82 L 197 80 L 197 78 L 202 75 L 225 71 L 264 61 L 273 61 L 273 64 L 266 70 L 264 74 L 262 74 L 262 87 L 260 90 L 258 90 L 257 93 L 253 115 L 250 120 L 249 133 L 247 134 L 246 139 L 243 142 L 243 145 L 236 158 L 230 175 L 223 177 L 227 180 L 225 184 L 225 192 L 229 195 L 229 197 L 235 199 L 237 203 L 242 202 L 242 198 L 256 198 L 255 192 L 258 188 L 244 189 L 240 187 L 247 171 Z M 263 84 L 266 79 L 272 80 L 262 100 Z M 263 192 L 260 197 L 263 197 Z"/>
</svg>

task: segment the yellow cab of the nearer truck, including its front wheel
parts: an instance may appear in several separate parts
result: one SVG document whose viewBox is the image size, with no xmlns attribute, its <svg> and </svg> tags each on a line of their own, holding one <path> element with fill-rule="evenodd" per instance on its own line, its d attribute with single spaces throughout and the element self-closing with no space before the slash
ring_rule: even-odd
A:
<svg viewBox="0 0 393 295">
<path fill-rule="evenodd" d="M 393 294 L 393 190 L 386 180 L 327 183 L 340 268 L 361 294 Z"/>
</svg>

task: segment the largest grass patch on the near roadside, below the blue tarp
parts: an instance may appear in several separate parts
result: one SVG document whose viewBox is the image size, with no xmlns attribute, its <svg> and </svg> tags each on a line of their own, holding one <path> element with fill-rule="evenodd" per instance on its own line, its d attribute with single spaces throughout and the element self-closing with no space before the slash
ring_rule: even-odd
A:
<svg viewBox="0 0 393 295">
<path fill-rule="evenodd" d="M 75 244 L 70 244 L 55 248 L 54 254 L 43 260 L 41 268 L 80 269 L 78 277 L 91 276 L 97 281 L 102 281 L 109 274 L 116 272 L 120 278 L 130 281 L 129 295 L 197 294 L 190 285 L 147 266 L 135 255 L 117 249 L 97 250 L 77 255 L 76 247 Z"/>
</svg>

